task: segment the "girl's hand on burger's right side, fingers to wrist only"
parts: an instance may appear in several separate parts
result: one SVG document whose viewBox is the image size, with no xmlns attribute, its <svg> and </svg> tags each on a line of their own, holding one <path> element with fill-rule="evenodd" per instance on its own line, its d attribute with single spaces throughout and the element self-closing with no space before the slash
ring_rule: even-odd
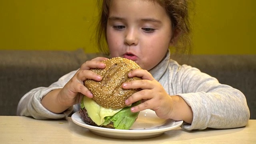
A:
<svg viewBox="0 0 256 144">
<path fill-rule="evenodd" d="M 125 89 L 142 89 L 141 91 L 132 94 L 132 96 L 125 101 L 126 105 L 130 105 L 141 100 L 142 103 L 131 108 L 131 111 L 139 112 L 151 109 L 156 112 L 156 115 L 159 118 L 170 118 L 173 110 L 172 98 L 164 90 L 163 86 L 155 80 L 147 70 L 133 70 L 128 76 L 138 76 L 142 78 L 142 80 L 134 80 L 122 84 L 122 87 Z"/>
</svg>

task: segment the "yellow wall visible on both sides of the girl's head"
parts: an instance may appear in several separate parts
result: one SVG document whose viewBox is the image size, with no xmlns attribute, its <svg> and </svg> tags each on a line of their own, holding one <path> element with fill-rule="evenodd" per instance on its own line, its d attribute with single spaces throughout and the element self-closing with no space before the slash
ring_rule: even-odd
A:
<svg viewBox="0 0 256 144">
<path fill-rule="evenodd" d="M 195 0 L 193 54 L 256 54 L 255 0 Z M 96 0 L 1 0 L 0 50 L 96 52 Z"/>
</svg>

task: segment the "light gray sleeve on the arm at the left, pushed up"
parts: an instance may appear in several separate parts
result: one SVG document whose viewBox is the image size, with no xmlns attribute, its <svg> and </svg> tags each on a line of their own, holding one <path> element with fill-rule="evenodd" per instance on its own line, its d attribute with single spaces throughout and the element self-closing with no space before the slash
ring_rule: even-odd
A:
<svg viewBox="0 0 256 144">
<path fill-rule="evenodd" d="M 41 104 L 42 98 L 48 92 L 63 88 L 63 86 L 74 76 L 76 71 L 72 71 L 62 76 L 57 82 L 54 82 L 49 87 L 39 87 L 26 93 L 21 99 L 17 107 L 18 116 L 31 116 L 36 119 L 60 119 L 66 118 L 73 110 L 73 107 L 68 108 L 62 114 L 55 114 L 44 108 Z"/>
</svg>

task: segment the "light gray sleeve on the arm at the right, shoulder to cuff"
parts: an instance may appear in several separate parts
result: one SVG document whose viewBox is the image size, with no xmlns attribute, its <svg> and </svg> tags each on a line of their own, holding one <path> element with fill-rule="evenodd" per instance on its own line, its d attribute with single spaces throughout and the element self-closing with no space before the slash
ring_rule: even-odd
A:
<svg viewBox="0 0 256 144">
<path fill-rule="evenodd" d="M 231 86 L 190 66 L 173 67 L 172 91 L 192 108 L 193 121 L 186 130 L 205 128 L 237 128 L 250 118 L 246 98 Z M 172 78 L 171 78 L 172 77 Z"/>
</svg>

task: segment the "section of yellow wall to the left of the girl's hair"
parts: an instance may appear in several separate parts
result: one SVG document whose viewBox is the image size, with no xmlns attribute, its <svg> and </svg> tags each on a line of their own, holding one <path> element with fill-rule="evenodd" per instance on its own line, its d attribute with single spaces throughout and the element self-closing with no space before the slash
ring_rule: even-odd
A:
<svg viewBox="0 0 256 144">
<path fill-rule="evenodd" d="M 94 52 L 96 0 L 0 0 L 0 49 Z"/>
</svg>

